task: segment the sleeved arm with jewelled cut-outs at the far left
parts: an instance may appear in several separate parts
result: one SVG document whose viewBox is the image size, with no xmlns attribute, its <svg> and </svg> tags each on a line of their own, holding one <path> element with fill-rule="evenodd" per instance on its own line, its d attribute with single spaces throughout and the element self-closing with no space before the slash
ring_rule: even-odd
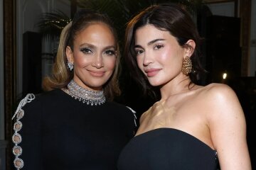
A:
<svg viewBox="0 0 256 170">
<path fill-rule="evenodd" d="M 22 166 L 28 170 L 41 169 L 41 114 L 32 95 L 23 98 L 14 115 L 13 153 L 16 169 Z"/>
</svg>

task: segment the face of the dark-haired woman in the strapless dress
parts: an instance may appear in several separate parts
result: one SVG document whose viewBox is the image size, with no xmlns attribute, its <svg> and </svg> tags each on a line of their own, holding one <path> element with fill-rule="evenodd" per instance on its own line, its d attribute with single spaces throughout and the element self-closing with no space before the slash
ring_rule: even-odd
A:
<svg viewBox="0 0 256 170">
<path fill-rule="evenodd" d="M 186 50 L 168 31 L 148 24 L 138 28 L 134 38 L 137 64 L 152 86 L 164 85 L 182 74 Z"/>
</svg>

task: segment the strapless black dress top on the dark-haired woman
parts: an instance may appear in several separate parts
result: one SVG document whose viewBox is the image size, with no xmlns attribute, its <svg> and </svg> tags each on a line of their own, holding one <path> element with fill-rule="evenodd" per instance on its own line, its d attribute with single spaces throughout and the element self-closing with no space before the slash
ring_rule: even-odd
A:
<svg viewBox="0 0 256 170">
<path fill-rule="evenodd" d="M 119 170 L 215 170 L 216 152 L 181 130 L 159 128 L 134 137 L 122 150 Z"/>
</svg>

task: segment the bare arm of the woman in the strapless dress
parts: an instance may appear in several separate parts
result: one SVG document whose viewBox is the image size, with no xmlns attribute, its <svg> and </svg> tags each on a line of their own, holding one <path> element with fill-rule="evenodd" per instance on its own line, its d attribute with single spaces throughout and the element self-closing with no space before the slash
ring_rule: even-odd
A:
<svg viewBox="0 0 256 170">
<path fill-rule="evenodd" d="M 246 141 L 245 115 L 238 97 L 230 87 L 214 85 L 208 91 L 209 128 L 218 152 L 221 170 L 250 170 Z"/>
</svg>

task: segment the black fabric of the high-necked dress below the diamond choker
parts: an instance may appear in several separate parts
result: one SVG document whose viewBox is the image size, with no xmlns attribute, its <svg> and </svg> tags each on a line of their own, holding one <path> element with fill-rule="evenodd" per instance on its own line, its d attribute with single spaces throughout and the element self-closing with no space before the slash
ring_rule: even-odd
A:
<svg viewBox="0 0 256 170">
<path fill-rule="evenodd" d="M 60 89 L 36 96 L 23 110 L 24 170 L 114 170 L 134 135 L 129 108 L 114 102 L 87 106 Z"/>
</svg>

